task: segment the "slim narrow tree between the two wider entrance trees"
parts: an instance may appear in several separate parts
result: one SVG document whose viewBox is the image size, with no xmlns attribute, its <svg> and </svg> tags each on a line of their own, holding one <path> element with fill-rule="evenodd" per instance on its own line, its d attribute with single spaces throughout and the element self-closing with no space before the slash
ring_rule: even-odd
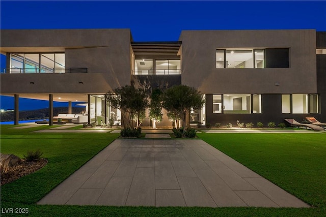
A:
<svg viewBox="0 0 326 217">
<path fill-rule="evenodd" d="M 162 91 L 160 89 L 153 89 L 151 93 L 151 101 L 148 105 L 149 117 L 153 120 L 153 128 L 156 128 L 156 121 L 161 121 L 163 114 L 162 101 L 161 101 Z"/>
</svg>

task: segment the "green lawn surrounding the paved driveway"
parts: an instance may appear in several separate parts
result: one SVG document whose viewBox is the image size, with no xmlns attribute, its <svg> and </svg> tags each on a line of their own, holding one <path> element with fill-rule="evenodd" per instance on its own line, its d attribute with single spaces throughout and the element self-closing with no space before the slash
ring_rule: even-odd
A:
<svg viewBox="0 0 326 217">
<path fill-rule="evenodd" d="M 23 157 L 43 151 L 48 164 L 1 187 L 4 208 L 29 208 L 31 216 L 325 216 L 326 134 L 198 134 L 198 137 L 248 166 L 314 208 L 199 208 L 35 205 L 119 134 L 30 133 L 1 126 L 1 152 Z M 16 214 L 13 214 L 16 215 Z"/>
</svg>

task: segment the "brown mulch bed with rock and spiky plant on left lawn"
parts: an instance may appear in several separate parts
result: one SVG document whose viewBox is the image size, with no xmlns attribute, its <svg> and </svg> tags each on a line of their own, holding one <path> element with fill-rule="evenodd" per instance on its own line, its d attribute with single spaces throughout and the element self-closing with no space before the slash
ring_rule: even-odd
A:
<svg viewBox="0 0 326 217">
<path fill-rule="evenodd" d="M 40 161 L 21 161 L 9 167 L 5 174 L 1 175 L 1 185 L 17 180 L 20 177 L 36 172 L 47 164 L 46 159 Z"/>
</svg>

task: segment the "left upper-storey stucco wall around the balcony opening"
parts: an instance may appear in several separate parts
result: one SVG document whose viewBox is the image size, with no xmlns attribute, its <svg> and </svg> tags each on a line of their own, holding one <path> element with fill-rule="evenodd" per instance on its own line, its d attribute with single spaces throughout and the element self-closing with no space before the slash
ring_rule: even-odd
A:
<svg viewBox="0 0 326 217">
<path fill-rule="evenodd" d="M 130 84 L 129 29 L 1 30 L 1 37 L 2 53 L 65 51 L 66 68 L 88 68 L 88 73 L 2 74 L 3 94 L 105 93 Z"/>
</svg>

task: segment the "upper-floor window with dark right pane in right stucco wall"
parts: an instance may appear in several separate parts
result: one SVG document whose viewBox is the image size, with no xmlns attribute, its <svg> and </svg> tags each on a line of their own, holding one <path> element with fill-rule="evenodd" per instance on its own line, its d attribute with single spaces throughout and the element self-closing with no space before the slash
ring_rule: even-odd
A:
<svg viewBox="0 0 326 217">
<path fill-rule="evenodd" d="M 217 49 L 216 69 L 288 68 L 289 49 Z"/>
</svg>

